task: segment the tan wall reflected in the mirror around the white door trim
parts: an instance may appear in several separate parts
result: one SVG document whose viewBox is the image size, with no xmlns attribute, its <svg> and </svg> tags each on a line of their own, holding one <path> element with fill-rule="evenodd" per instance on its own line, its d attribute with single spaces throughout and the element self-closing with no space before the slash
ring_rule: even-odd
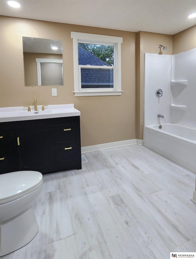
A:
<svg viewBox="0 0 196 259">
<path fill-rule="evenodd" d="M 37 86 L 37 63 L 36 58 L 62 59 L 61 54 L 45 54 L 45 53 L 23 53 L 24 57 L 24 73 L 25 86 Z"/>
</svg>

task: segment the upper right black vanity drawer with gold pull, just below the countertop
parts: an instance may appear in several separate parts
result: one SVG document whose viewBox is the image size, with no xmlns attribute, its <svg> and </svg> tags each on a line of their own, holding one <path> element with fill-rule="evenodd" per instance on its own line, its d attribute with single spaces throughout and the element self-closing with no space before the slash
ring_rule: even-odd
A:
<svg viewBox="0 0 196 259">
<path fill-rule="evenodd" d="M 77 133 L 75 124 L 64 125 L 62 128 L 54 129 L 55 148 L 76 145 L 76 139 Z"/>
</svg>

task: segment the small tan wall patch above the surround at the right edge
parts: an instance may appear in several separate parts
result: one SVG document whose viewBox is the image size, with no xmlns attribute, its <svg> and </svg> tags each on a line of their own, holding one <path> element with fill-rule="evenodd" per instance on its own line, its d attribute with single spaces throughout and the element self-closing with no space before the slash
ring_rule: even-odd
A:
<svg viewBox="0 0 196 259">
<path fill-rule="evenodd" d="M 173 35 L 173 54 L 196 48 L 196 25 Z"/>
</svg>

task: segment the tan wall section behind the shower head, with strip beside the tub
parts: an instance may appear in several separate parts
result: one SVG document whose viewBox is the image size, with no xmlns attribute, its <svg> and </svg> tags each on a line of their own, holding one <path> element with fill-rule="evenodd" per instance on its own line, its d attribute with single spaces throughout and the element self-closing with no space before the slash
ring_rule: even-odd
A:
<svg viewBox="0 0 196 259">
<path fill-rule="evenodd" d="M 138 46 L 138 81 L 137 81 L 137 125 L 138 125 L 138 139 L 143 139 L 143 126 L 144 126 L 144 53 L 156 53 L 172 55 L 172 35 L 151 33 L 140 31 L 137 35 Z M 168 49 L 163 51 L 159 45 L 167 46 Z"/>
</svg>

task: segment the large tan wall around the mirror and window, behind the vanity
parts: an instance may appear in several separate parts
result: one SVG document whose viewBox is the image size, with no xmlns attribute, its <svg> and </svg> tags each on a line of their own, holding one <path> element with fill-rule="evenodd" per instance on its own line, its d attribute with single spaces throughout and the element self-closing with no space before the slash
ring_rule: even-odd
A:
<svg viewBox="0 0 196 259">
<path fill-rule="evenodd" d="M 136 125 L 136 33 L 1 17 L 0 34 L 0 106 L 74 103 L 81 111 L 81 145 L 123 141 L 137 138 Z M 123 37 L 121 96 L 75 97 L 73 40 L 71 31 Z M 52 86 L 25 86 L 22 36 L 62 40 L 64 86 L 58 86 L 57 97 Z"/>
</svg>

